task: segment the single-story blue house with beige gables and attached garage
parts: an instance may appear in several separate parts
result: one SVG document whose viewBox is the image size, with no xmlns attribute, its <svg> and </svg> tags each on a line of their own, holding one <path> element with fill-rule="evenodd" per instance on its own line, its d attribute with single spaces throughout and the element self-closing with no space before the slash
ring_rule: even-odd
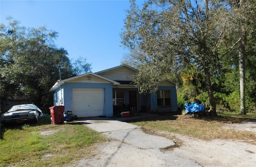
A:
<svg viewBox="0 0 256 167">
<path fill-rule="evenodd" d="M 121 65 L 100 72 L 58 80 L 50 89 L 54 105 L 64 105 L 77 117 L 112 117 L 123 111 L 176 111 L 176 83 L 164 79 L 157 93 L 140 94 L 131 75 L 138 70 Z"/>
</svg>

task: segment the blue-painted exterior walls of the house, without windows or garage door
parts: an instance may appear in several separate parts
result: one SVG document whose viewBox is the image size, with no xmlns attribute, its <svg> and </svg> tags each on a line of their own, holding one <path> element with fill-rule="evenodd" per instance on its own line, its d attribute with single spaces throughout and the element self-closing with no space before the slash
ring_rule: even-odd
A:
<svg viewBox="0 0 256 167">
<path fill-rule="evenodd" d="M 159 86 L 159 90 L 171 90 L 172 106 L 158 107 L 157 106 L 157 94 L 142 95 L 138 93 L 136 88 L 112 88 L 111 83 L 64 83 L 60 88 L 54 91 L 54 105 L 65 106 L 65 111 L 72 111 L 73 109 L 73 88 L 104 88 L 105 107 L 104 115 L 106 117 L 113 116 L 113 101 L 112 91 L 123 90 L 125 91 L 125 103 L 126 106 L 129 102 L 129 91 L 134 90 L 137 92 L 138 97 L 138 111 L 150 112 L 150 111 L 176 111 L 177 110 L 177 94 L 174 86 Z M 63 94 L 63 95 L 62 95 Z M 61 98 L 63 96 L 63 99 Z"/>
</svg>

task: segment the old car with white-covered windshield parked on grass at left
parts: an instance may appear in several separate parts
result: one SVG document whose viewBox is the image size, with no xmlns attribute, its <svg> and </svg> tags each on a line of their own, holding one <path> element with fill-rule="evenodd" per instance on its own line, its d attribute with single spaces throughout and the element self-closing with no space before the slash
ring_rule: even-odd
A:
<svg viewBox="0 0 256 167">
<path fill-rule="evenodd" d="M 34 104 L 14 105 L 1 115 L 1 123 L 38 123 L 38 117 L 42 116 L 42 111 Z"/>
</svg>

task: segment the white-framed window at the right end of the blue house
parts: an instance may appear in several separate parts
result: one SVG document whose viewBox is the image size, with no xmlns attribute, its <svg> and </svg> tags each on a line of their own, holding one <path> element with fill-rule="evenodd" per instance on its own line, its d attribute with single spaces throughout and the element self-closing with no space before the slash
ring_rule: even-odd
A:
<svg viewBox="0 0 256 167">
<path fill-rule="evenodd" d="M 157 106 L 170 106 L 171 103 L 171 91 L 170 90 L 158 90 L 157 91 Z"/>
</svg>

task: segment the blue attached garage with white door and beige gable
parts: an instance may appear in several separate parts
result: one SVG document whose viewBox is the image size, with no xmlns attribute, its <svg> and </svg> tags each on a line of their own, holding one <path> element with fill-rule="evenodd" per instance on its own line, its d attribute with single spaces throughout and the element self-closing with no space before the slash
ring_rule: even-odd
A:
<svg viewBox="0 0 256 167">
<path fill-rule="evenodd" d="M 58 80 L 50 91 L 54 92 L 54 105 L 64 105 L 77 117 L 113 116 L 113 85 L 119 82 L 92 72 Z"/>
</svg>

